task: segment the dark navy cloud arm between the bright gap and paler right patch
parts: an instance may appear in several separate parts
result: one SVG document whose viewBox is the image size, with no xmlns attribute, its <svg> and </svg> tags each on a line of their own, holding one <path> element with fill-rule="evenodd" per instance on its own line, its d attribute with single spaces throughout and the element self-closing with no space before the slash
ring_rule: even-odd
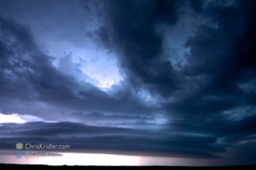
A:
<svg viewBox="0 0 256 170">
<path fill-rule="evenodd" d="M 180 80 L 171 62 L 163 59 L 159 24 L 174 25 L 183 1 L 106 1 L 98 7 L 102 25 L 94 39 L 110 51 L 117 51 L 120 67 L 135 87 L 169 96 L 179 88 Z M 92 34 L 92 33 L 90 33 Z"/>
</svg>

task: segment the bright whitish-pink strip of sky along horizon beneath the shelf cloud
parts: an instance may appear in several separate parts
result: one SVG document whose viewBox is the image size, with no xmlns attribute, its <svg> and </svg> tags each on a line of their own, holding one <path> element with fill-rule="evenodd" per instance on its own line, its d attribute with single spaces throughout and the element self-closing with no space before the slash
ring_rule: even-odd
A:
<svg viewBox="0 0 256 170">
<path fill-rule="evenodd" d="M 93 165 L 93 166 L 205 166 L 201 159 L 192 159 L 184 157 L 145 157 L 145 156 L 127 156 L 101 153 L 61 153 L 60 157 L 21 157 L 17 159 L 11 153 L 2 155 L 0 160 L 4 164 L 48 164 L 48 165 Z M 0 162 L 1 163 L 1 162 Z"/>
</svg>

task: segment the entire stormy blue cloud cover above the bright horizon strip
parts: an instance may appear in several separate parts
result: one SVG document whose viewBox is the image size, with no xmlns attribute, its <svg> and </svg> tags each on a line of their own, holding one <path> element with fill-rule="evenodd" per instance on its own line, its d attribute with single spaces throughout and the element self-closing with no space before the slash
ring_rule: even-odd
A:
<svg viewBox="0 0 256 170">
<path fill-rule="evenodd" d="M 254 164 L 254 0 L 24 3 L 0 2 L 0 114 L 21 120 L 0 149 Z"/>
</svg>

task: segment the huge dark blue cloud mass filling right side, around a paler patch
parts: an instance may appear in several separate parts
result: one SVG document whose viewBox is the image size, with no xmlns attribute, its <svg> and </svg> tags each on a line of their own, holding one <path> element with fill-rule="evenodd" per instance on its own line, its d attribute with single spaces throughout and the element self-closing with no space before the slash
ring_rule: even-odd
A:
<svg viewBox="0 0 256 170">
<path fill-rule="evenodd" d="M 102 3 L 97 11 L 101 26 L 94 32 L 96 39 L 117 52 L 128 83 L 170 99 L 162 100 L 170 119 L 186 122 L 182 128 L 189 133 L 195 127 L 193 132 L 221 138 L 230 134 L 239 141 L 255 130 L 246 122 L 254 120 L 254 2 L 188 2 Z M 193 10 L 186 13 L 184 9 L 189 8 Z M 189 47 L 187 63 L 178 71 L 166 60 L 165 37 L 157 26 L 175 27 L 189 13 L 198 24 L 184 43 Z M 173 127 L 179 126 L 174 123 Z"/>
</svg>

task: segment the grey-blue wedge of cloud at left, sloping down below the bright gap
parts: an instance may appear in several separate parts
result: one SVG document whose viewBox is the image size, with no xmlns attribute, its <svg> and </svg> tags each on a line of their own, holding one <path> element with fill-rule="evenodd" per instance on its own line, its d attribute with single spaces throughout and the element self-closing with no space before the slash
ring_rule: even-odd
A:
<svg viewBox="0 0 256 170">
<path fill-rule="evenodd" d="M 57 117 L 61 111 L 85 109 L 131 114 L 152 112 L 128 89 L 113 87 L 114 92 L 110 95 L 86 81 L 79 81 L 77 77 L 82 73 L 71 63 L 71 59 L 68 60 L 68 55 L 59 62 L 60 71 L 57 70 L 52 66 L 52 57 L 40 49 L 29 28 L 24 25 L 1 17 L 1 33 L 2 112 L 28 114 L 32 109 L 32 114 L 43 117 L 45 111 Z M 53 110 L 42 108 L 42 104 Z M 39 111 L 39 108 L 43 110 Z"/>
</svg>

